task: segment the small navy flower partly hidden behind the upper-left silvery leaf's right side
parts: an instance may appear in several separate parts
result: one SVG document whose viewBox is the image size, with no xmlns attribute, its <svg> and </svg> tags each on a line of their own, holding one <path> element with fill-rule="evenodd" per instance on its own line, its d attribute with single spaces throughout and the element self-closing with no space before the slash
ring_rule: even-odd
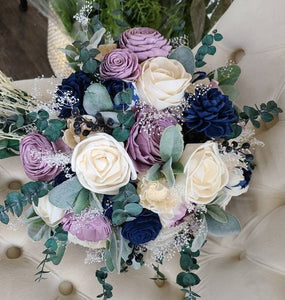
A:
<svg viewBox="0 0 285 300">
<path fill-rule="evenodd" d="M 112 101 L 114 101 L 114 98 L 118 93 L 122 92 L 123 90 L 126 90 L 127 88 L 130 88 L 133 92 L 132 100 L 133 101 L 138 100 L 138 97 L 135 93 L 135 88 L 131 82 L 126 82 L 119 78 L 109 78 L 104 80 L 102 84 L 106 87 Z M 122 110 L 123 108 L 128 109 L 128 107 L 129 106 L 123 102 L 121 102 L 119 105 L 116 105 L 114 103 L 113 106 L 114 109 L 118 109 L 118 110 Z"/>
</svg>

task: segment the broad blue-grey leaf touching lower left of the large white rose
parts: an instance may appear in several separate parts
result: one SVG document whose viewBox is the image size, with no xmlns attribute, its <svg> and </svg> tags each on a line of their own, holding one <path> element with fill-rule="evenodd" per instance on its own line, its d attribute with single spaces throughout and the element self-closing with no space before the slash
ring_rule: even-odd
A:
<svg viewBox="0 0 285 300">
<path fill-rule="evenodd" d="M 77 177 L 72 177 L 50 191 L 49 201 L 56 207 L 70 209 L 81 189 L 82 185 Z"/>
</svg>

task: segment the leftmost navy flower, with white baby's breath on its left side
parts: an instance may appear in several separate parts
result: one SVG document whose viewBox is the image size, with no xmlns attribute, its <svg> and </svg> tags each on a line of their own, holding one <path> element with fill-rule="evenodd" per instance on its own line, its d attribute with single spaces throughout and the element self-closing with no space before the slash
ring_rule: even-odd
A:
<svg viewBox="0 0 285 300">
<path fill-rule="evenodd" d="M 83 108 L 83 96 L 91 81 L 91 78 L 82 71 L 72 73 L 68 78 L 62 80 L 55 93 L 55 101 L 59 106 L 60 118 L 69 118 L 74 108 L 78 108 L 80 114 L 86 114 Z M 73 104 L 68 99 L 77 99 L 78 101 Z"/>
</svg>

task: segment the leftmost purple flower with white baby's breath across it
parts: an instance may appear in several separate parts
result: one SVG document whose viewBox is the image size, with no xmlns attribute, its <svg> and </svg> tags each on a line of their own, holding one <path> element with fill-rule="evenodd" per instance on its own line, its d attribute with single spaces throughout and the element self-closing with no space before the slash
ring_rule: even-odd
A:
<svg viewBox="0 0 285 300">
<path fill-rule="evenodd" d="M 38 132 L 27 134 L 20 142 L 20 157 L 27 176 L 32 180 L 49 181 L 61 171 L 62 165 L 56 161 L 58 152 L 69 153 L 70 148 L 61 138 L 50 142 Z"/>
</svg>

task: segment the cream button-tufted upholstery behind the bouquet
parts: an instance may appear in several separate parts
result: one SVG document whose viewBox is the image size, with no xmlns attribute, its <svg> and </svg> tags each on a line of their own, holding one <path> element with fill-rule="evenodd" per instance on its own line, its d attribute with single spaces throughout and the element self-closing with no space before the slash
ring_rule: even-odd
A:
<svg viewBox="0 0 285 300">
<path fill-rule="evenodd" d="M 241 106 L 274 99 L 285 110 L 284 10 L 283 0 L 235 0 L 216 25 L 224 40 L 217 44 L 216 55 L 208 57 L 207 68 L 210 71 L 229 59 L 241 66 L 237 82 Z M 44 91 L 51 89 L 53 82 L 22 81 L 15 85 L 44 99 L 49 97 Z M 202 282 L 195 291 L 204 300 L 285 299 L 284 119 L 282 114 L 277 124 L 273 122 L 257 132 L 265 147 L 256 151 L 258 165 L 251 187 L 247 194 L 233 198 L 227 208 L 240 219 L 242 232 L 236 237 L 209 237 L 203 248 L 199 270 Z M 0 178 L 0 202 L 17 188 L 17 182 L 27 180 L 15 159 L 0 161 Z M 21 251 L 11 248 L 15 246 Z M 86 253 L 80 246 L 70 245 L 60 266 L 49 265 L 48 280 L 34 283 L 42 250 L 41 243 L 29 240 L 20 221 L 14 219 L 8 227 L 0 225 L 1 299 L 96 299 L 100 292 L 94 276 L 97 266 L 84 264 Z M 114 299 L 183 299 L 174 283 L 177 265 L 175 258 L 164 266 L 169 281 L 162 288 L 148 280 L 153 271 L 147 267 L 143 272 L 111 275 Z"/>
</svg>

